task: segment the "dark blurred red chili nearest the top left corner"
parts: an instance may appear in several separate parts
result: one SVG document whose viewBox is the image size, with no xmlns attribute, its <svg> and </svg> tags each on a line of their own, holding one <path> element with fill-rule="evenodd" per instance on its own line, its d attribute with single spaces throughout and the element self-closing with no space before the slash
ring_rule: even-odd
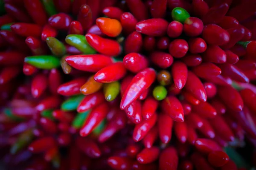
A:
<svg viewBox="0 0 256 170">
<path fill-rule="evenodd" d="M 30 18 L 29 14 L 26 13 L 25 9 L 21 6 L 17 7 L 14 4 L 6 3 L 4 4 L 4 8 L 6 12 L 14 17 L 16 20 L 24 23 L 31 23 L 32 19 Z"/>
</svg>

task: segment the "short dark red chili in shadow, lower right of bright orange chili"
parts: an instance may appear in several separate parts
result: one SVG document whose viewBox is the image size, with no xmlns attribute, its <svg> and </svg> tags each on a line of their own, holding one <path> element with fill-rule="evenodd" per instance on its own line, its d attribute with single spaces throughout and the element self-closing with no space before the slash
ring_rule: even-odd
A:
<svg viewBox="0 0 256 170">
<path fill-rule="evenodd" d="M 142 35 L 137 31 L 132 32 L 126 37 L 124 50 L 125 54 L 139 53 L 143 45 Z"/>
</svg>

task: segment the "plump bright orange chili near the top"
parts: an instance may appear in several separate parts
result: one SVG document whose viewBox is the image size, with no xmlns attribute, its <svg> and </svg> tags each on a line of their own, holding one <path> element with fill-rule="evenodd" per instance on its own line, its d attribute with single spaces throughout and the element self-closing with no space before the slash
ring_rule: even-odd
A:
<svg viewBox="0 0 256 170">
<path fill-rule="evenodd" d="M 99 17 L 96 24 L 109 37 L 117 37 L 122 31 L 121 23 L 116 19 Z"/>
</svg>

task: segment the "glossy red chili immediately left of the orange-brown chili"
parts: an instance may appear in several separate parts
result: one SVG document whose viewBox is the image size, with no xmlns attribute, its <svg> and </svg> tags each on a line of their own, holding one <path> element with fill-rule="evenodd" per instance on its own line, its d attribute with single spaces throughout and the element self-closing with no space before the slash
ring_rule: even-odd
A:
<svg viewBox="0 0 256 170">
<path fill-rule="evenodd" d="M 58 87 L 58 94 L 63 96 L 72 96 L 80 94 L 80 88 L 87 81 L 87 78 L 77 78 L 66 82 Z"/>
</svg>

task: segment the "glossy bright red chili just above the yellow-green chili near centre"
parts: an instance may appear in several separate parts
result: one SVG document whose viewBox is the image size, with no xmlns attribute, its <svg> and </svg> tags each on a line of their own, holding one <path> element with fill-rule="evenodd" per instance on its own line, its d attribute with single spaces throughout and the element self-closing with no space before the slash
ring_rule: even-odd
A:
<svg viewBox="0 0 256 170">
<path fill-rule="evenodd" d="M 126 68 L 122 62 L 116 62 L 102 68 L 94 75 L 94 80 L 100 83 L 110 83 L 125 77 Z"/>
</svg>

